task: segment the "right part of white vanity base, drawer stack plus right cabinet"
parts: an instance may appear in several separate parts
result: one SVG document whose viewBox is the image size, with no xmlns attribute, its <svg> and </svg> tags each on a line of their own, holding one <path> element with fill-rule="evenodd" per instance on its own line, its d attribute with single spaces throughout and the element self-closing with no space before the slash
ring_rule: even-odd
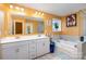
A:
<svg viewBox="0 0 86 64">
<path fill-rule="evenodd" d="M 35 59 L 49 53 L 49 39 L 36 39 L 29 41 L 29 59 Z"/>
</svg>

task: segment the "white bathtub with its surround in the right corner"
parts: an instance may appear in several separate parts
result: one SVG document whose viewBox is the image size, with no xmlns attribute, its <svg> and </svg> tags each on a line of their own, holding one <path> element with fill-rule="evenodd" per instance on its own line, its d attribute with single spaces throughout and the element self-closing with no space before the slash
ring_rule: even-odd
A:
<svg viewBox="0 0 86 64">
<path fill-rule="evenodd" d="M 72 59 L 81 59 L 78 55 L 81 52 L 78 52 L 78 44 L 81 42 L 78 41 L 67 41 L 67 40 L 59 40 L 56 41 L 56 52 L 63 52 L 67 54 Z"/>
</svg>

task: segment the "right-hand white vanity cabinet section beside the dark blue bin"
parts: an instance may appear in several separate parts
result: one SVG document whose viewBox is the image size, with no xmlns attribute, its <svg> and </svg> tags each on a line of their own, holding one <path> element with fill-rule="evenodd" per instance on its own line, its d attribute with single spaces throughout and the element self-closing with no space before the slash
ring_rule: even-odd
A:
<svg viewBox="0 0 86 64">
<path fill-rule="evenodd" d="M 46 53 L 49 53 L 49 39 L 40 39 L 37 40 L 37 56 L 44 55 Z"/>
</svg>

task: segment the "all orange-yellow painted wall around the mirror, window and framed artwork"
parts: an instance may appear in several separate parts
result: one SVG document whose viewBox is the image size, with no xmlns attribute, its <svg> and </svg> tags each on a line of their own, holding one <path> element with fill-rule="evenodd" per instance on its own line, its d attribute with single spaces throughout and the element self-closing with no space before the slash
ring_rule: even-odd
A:
<svg viewBox="0 0 86 64">
<path fill-rule="evenodd" d="M 11 10 L 9 8 L 10 4 L 0 4 L 0 10 L 3 11 L 5 13 L 5 17 L 4 17 L 4 25 L 3 25 L 3 37 L 5 36 L 9 36 L 9 22 L 10 22 L 10 11 L 16 11 L 16 10 Z M 22 5 L 19 5 L 19 4 L 13 4 L 15 7 L 22 7 Z M 30 9 L 30 8 L 25 8 L 25 7 L 22 7 L 25 9 L 25 13 L 26 15 L 29 17 L 29 16 L 33 16 L 33 14 L 35 14 L 35 12 L 37 10 L 35 9 Z M 16 11 L 17 12 L 17 11 Z M 45 13 L 45 12 L 44 12 Z M 82 29 L 83 29 L 83 20 L 82 20 L 82 15 L 81 15 L 81 12 L 77 12 L 77 26 L 75 27 L 66 27 L 66 16 L 63 16 L 63 17 L 60 17 L 60 16 L 56 16 L 56 15 L 52 15 L 52 14 L 48 14 L 48 13 L 45 13 L 45 16 L 40 16 L 44 18 L 44 22 L 45 22 L 45 34 L 48 34 L 48 33 L 51 33 L 51 34 L 54 34 L 54 35 L 71 35 L 71 36 L 81 36 L 82 35 Z M 62 20 L 62 31 L 61 33 L 52 33 L 52 26 L 47 26 L 46 23 L 48 20 L 52 20 L 52 18 L 61 18 Z"/>
</svg>

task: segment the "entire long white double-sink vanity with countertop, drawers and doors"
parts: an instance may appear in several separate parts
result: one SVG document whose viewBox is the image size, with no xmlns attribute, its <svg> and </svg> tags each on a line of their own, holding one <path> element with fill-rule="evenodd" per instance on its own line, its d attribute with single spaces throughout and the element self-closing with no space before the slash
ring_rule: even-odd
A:
<svg viewBox="0 0 86 64">
<path fill-rule="evenodd" d="M 3 38 L 0 41 L 1 60 L 30 60 L 49 53 L 49 38 L 41 35 Z"/>
</svg>

